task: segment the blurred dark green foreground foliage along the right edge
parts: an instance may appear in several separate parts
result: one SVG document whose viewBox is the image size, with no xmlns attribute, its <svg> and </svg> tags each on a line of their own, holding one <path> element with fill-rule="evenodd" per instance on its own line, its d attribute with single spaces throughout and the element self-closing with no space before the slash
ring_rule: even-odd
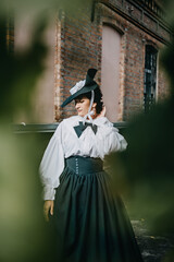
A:
<svg viewBox="0 0 174 262">
<path fill-rule="evenodd" d="M 173 10 L 172 10 L 173 12 Z M 173 21 L 174 22 L 174 21 Z M 172 24 L 174 25 L 174 24 Z M 174 38 L 161 56 L 171 94 L 148 115 L 134 116 L 124 133 L 128 148 L 110 158 L 115 188 L 130 215 L 146 219 L 151 234 L 174 236 Z M 173 251 L 164 261 L 173 261 Z"/>
</svg>

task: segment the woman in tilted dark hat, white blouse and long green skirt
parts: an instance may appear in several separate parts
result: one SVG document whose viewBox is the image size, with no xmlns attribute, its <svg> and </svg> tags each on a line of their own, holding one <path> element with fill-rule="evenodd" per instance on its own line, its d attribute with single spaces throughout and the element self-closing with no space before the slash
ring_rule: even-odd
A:
<svg viewBox="0 0 174 262">
<path fill-rule="evenodd" d="M 62 107 L 75 100 L 78 116 L 64 119 L 41 162 L 45 215 L 54 224 L 61 262 L 139 262 L 141 255 L 119 196 L 112 194 L 103 158 L 126 148 L 103 117 L 102 94 L 89 69 Z M 51 215 L 51 216 L 50 216 Z"/>
</svg>

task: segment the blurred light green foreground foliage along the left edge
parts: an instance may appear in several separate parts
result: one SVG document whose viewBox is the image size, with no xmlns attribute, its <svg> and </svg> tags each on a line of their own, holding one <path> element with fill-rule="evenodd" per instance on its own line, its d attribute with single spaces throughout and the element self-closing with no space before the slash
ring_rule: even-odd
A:
<svg viewBox="0 0 174 262">
<path fill-rule="evenodd" d="M 37 136 L 16 136 L 10 128 L 18 111 L 33 119 L 30 98 L 45 71 L 48 47 L 44 35 L 49 11 L 77 14 L 89 1 L 0 2 L 0 261 L 44 262 L 52 260 L 51 230 L 44 222 L 38 167 L 42 151 Z M 85 4 L 85 5 L 84 5 Z M 13 10 L 13 12 L 12 12 Z M 9 52 L 7 21 L 35 13 L 32 44 L 25 51 Z M 23 140 L 24 139 L 24 140 Z"/>
</svg>

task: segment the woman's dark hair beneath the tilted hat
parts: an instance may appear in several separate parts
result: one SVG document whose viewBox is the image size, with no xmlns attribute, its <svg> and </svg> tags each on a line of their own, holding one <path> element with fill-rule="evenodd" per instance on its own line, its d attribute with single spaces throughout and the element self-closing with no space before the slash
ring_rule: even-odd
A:
<svg viewBox="0 0 174 262">
<path fill-rule="evenodd" d="M 95 92 L 94 103 L 97 103 L 96 112 L 100 114 L 102 111 L 102 107 L 103 107 L 102 93 L 101 93 L 100 87 L 97 87 L 96 90 L 94 90 L 94 92 Z M 91 92 L 82 94 L 82 95 L 77 96 L 76 98 L 82 99 L 83 97 L 86 97 L 90 100 L 91 99 Z"/>
</svg>

